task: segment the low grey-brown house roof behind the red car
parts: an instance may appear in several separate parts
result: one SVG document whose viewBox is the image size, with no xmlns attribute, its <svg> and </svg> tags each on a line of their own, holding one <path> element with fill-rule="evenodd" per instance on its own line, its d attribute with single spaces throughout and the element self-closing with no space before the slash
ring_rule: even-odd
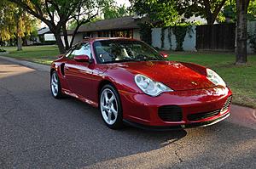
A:
<svg viewBox="0 0 256 169">
<path fill-rule="evenodd" d="M 109 20 L 100 20 L 94 23 L 82 25 L 79 28 L 79 32 L 136 29 L 139 28 L 138 24 L 142 23 L 144 20 L 145 18 L 140 19 L 134 16 L 125 16 Z"/>
</svg>

